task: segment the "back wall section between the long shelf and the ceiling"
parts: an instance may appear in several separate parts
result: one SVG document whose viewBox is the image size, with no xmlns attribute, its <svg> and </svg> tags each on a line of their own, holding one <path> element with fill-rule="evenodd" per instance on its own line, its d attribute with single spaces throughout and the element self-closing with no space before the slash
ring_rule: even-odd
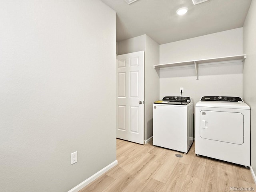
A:
<svg viewBox="0 0 256 192">
<path fill-rule="evenodd" d="M 160 64 L 239 55 L 243 28 L 160 45 Z"/>
</svg>

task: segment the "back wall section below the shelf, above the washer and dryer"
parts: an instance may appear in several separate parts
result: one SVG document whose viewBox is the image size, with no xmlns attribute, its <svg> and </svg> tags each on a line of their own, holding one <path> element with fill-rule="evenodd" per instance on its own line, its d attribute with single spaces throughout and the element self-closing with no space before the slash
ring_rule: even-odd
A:
<svg viewBox="0 0 256 192">
<path fill-rule="evenodd" d="M 242 62 L 200 65 L 199 80 L 194 66 L 160 70 L 160 99 L 180 95 L 180 87 L 194 105 L 202 96 L 242 97 L 242 72 Z"/>
</svg>

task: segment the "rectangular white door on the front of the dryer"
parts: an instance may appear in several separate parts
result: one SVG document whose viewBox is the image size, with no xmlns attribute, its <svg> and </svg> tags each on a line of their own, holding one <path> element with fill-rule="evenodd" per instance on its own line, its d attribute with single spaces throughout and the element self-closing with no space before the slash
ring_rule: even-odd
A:
<svg viewBox="0 0 256 192">
<path fill-rule="evenodd" d="M 205 139 L 244 143 L 244 115 L 235 112 L 200 112 L 200 136 Z"/>
</svg>

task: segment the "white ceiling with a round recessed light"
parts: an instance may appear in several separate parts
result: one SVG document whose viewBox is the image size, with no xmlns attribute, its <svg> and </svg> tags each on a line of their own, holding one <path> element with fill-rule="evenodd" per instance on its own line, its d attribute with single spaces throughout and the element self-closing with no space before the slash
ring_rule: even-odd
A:
<svg viewBox="0 0 256 192">
<path fill-rule="evenodd" d="M 242 27 L 251 0 L 102 0 L 116 11 L 116 41 L 147 34 L 165 44 Z M 187 7 L 179 16 L 176 10 Z"/>
</svg>

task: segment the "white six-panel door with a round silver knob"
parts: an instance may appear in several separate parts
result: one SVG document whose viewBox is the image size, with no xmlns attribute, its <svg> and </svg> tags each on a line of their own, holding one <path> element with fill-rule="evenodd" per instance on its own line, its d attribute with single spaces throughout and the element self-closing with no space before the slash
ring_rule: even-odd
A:
<svg viewBox="0 0 256 192">
<path fill-rule="evenodd" d="M 116 137 L 144 144 L 144 51 L 116 56 Z"/>
</svg>

